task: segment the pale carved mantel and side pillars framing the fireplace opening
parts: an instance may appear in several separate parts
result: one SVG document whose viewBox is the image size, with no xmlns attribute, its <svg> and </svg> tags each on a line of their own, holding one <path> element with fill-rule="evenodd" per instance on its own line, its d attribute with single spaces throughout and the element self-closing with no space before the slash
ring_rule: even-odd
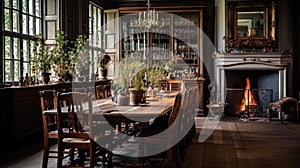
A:
<svg viewBox="0 0 300 168">
<path fill-rule="evenodd" d="M 214 59 L 214 80 L 219 88 L 221 102 L 225 102 L 226 70 L 278 70 L 278 99 L 286 96 L 287 80 L 292 79 L 292 54 L 279 52 L 213 53 L 212 57 Z"/>
</svg>

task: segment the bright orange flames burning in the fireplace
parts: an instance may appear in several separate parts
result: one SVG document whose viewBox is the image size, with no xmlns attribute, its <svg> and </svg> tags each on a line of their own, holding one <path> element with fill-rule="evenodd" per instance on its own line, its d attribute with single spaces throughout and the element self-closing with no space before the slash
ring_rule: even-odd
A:
<svg viewBox="0 0 300 168">
<path fill-rule="evenodd" d="M 240 109 L 245 111 L 247 106 L 256 106 L 252 91 L 250 91 L 250 79 L 246 78 L 246 89 L 244 91 L 244 98 L 242 99 Z"/>
</svg>

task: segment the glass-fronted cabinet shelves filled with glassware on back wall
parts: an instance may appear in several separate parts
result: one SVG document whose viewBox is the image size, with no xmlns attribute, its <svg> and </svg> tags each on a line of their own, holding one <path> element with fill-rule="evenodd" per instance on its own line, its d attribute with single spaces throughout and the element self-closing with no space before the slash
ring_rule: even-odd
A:
<svg viewBox="0 0 300 168">
<path fill-rule="evenodd" d="M 150 54 L 147 55 L 149 56 L 147 59 L 150 61 L 150 66 L 162 66 L 172 58 L 180 57 L 182 59 L 175 60 L 174 65 L 172 65 L 177 70 L 186 67 L 200 68 L 198 54 L 200 32 L 197 32 L 199 29 L 193 27 L 192 24 L 186 24 L 187 21 L 183 18 L 192 20 L 194 23 L 199 23 L 198 20 L 201 16 L 199 13 L 189 12 L 188 10 L 174 14 L 176 15 L 167 18 L 163 18 L 163 15 L 160 16 L 160 20 L 166 24 L 164 26 L 153 26 L 149 33 L 137 33 L 138 28 L 134 24 L 121 25 L 123 28 L 121 37 L 126 37 L 122 41 L 123 44 L 121 47 L 123 48 L 120 50 L 121 54 L 137 52 L 140 53 L 138 54 L 140 57 L 144 58 L 146 49 L 149 49 Z M 137 17 L 137 15 L 132 15 L 131 19 L 135 20 Z M 134 49 L 139 50 L 136 51 Z"/>
</svg>

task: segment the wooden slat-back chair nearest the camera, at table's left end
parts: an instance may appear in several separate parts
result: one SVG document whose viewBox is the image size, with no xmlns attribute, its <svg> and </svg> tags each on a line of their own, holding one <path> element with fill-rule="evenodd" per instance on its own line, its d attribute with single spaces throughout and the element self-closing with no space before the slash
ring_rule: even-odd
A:
<svg viewBox="0 0 300 168">
<path fill-rule="evenodd" d="M 84 167 L 84 151 L 89 150 L 89 167 L 94 165 L 94 142 L 90 133 L 93 128 L 92 97 L 88 94 L 70 92 L 57 94 L 57 128 L 58 128 L 58 160 L 57 167 L 62 167 L 64 150 L 77 149 L 80 165 Z M 65 104 L 66 107 L 62 107 Z M 68 116 L 68 132 L 64 131 L 63 115 Z M 88 117 L 86 117 L 88 116 Z M 81 122 L 80 122 L 81 121 Z M 85 129 L 86 130 L 85 130 Z M 77 165 L 76 165 L 77 166 Z"/>
</svg>

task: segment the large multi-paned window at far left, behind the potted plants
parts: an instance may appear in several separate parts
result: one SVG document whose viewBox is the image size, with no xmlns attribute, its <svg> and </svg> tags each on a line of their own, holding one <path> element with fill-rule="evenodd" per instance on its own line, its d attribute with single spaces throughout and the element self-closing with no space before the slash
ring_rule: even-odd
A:
<svg viewBox="0 0 300 168">
<path fill-rule="evenodd" d="M 1 82 L 30 74 L 30 46 L 42 34 L 42 0 L 3 0 Z"/>
</svg>

